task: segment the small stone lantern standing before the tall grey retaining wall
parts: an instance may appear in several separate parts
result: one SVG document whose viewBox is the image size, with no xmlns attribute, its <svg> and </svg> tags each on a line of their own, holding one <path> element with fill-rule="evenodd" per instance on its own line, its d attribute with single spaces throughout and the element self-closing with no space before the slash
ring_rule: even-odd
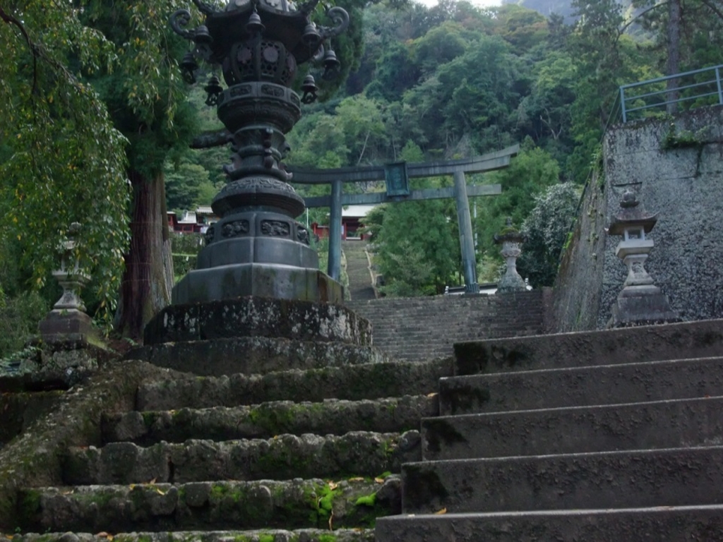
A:
<svg viewBox="0 0 723 542">
<path fill-rule="evenodd" d="M 623 283 L 623 291 L 612 305 L 612 318 L 607 327 L 680 321 L 677 312 L 670 308 L 667 296 L 654 285 L 644 265 L 653 248 L 653 240 L 647 238 L 646 233 L 650 233 L 657 220 L 657 215 L 647 213 L 633 192 L 623 194 L 620 212 L 612 218 L 608 233 L 623 236 L 615 255 L 628 266 L 628 277 Z"/>
</svg>

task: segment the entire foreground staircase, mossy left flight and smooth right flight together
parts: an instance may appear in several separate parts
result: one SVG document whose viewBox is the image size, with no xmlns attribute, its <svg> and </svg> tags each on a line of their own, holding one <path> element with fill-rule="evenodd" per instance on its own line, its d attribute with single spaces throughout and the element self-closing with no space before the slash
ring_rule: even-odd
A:
<svg viewBox="0 0 723 542">
<path fill-rule="evenodd" d="M 367 333 L 355 326 L 332 335 Z M 723 540 L 720 321 L 457 343 L 429 361 L 268 341 L 147 345 L 64 392 L 0 449 L 0 532 Z"/>
</svg>

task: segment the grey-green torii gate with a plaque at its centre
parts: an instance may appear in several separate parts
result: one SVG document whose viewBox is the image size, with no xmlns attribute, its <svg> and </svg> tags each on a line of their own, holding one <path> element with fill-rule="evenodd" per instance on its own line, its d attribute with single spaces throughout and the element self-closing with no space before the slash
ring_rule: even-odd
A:
<svg viewBox="0 0 723 542">
<path fill-rule="evenodd" d="M 440 162 L 404 163 L 372 165 L 355 168 L 311 169 L 288 168 L 293 173 L 292 183 L 330 184 L 331 195 L 304 198 L 307 207 L 330 207 L 329 223 L 329 266 L 328 275 L 339 280 L 341 277 L 341 210 L 344 205 L 364 205 L 385 202 L 408 202 L 424 199 L 444 199 L 454 197 L 457 202 L 457 220 L 459 224 L 459 242 L 464 270 L 465 291 L 479 293 L 477 285 L 476 258 L 474 255 L 474 237 L 472 220 L 469 214 L 469 196 L 494 196 L 502 192 L 499 184 L 467 186 L 465 173 L 482 173 L 506 168 L 510 158 L 520 150 L 513 145 L 497 152 Z M 409 190 L 409 177 L 435 177 L 452 175 L 454 186 L 441 189 Z M 364 181 L 387 181 L 387 192 L 367 194 L 343 194 L 344 183 Z"/>
</svg>

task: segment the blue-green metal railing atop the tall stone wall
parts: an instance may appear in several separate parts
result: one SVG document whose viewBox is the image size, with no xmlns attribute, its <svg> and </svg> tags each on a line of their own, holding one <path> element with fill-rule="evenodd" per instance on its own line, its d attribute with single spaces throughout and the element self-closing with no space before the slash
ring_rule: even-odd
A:
<svg viewBox="0 0 723 542">
<path fill-rule="evenodd" d="M 723 105 L 723 64 L 696 69 L 620 87 L 623 122 L 666 111 L 670 103 L 683 104 L 684 109 Z M 675 80 L 675 87 L 666 88 Z M 630 113 L 633 116 L 630 116 Z"/>
</svg>

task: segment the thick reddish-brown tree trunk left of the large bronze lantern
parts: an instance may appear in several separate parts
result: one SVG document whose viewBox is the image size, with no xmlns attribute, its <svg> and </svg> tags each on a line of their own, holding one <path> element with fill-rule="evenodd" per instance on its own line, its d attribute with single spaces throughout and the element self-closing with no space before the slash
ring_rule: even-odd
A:
<svg viewBox="0 0 723 542">
<path fill-rule="evenodd" d="M 125 255 L 116 330 L 140 340 L 145 324 L 170 303 L 174 273 L 163 173 L 149 179 L 130 171 L 129 178 L 133 188 L 131 246 Z"/>
</svg>

